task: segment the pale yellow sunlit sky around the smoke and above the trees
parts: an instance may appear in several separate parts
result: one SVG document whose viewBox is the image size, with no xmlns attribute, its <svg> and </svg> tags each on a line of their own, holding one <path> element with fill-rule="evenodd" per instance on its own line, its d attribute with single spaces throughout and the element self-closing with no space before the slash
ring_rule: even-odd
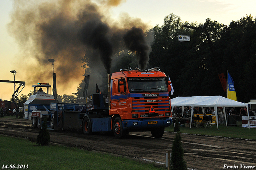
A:
<svg viewBox="0 0 256 170">
<path fill-rule="evenodd" d="M 20 47 L 7 31 L 12 4 L 12 0 L 0 0 L 0 80 L 14 80 L 14 75 L 10 70 L 16 70 L 15 80 L 26 82 L 27 80 L 21 79 L 22 70 L 19 69 L 17 64 L 21 52 Z M 240 20 L 247 14 L 251 14 L 255 18 L 255 6 L 256 0 L 126 0 L 119 6 L 112 8 L 110 14 L 115 19 L 125 12 L 131 17 L 140 18 L 152 27 L 156 24 L 161 26 L 164 17 L 171 13 L 179 16 L 183 22 L 197 22 L 200 24 L 204 23 L 206 18 L 211 18 L 211 20 L 228 25 L 232 20 Z M 52 65 L 50 63 L 49 70 L 49 74 L 51 74 Z M 50 84 L 51 82 L 52 80 L 49 80 Z M 31 86 L 32 84 L 26 84 L 20 94 L 27 95 L 32 90 Z M 58 94 L 71 95 L 71 92 L 76 92 L 76 86 L 78 84 L 74 84 L 73 87 L 68 87 L 66 90 L 58 91 L 57 84 Z M 0 98 L 2 100 L 10 100 L 13 91 L 14 85 L 12 83 L 0 82 Z"/>
</svg>

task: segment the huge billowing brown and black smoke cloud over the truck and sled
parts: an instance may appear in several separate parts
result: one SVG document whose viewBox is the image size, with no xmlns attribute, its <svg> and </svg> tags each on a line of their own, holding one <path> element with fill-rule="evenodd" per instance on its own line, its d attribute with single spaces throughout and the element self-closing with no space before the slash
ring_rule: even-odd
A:
<svg viewBox="0 0 256 170">
<path fill-rule="evenodd" d="M 111 19 L 109 10 L 125 0 L 15 0 L 10 34 L 20 46 L 17 63 L 22 70 L 22 80 L 27 86 L 38 82 L 52 84 L 52 65 L 47 59 L 54 59 L 57 79 L 57 93 L 76 92 L 76 86 L 90 74 L 102 90 L 103 80 L 110 73 L 113 56 L 124 48 L 138 52 L 138 63 L 148 64 L 149 45 L 143 33 L 149 26 L 139 18 L 121 14 L 118 20 Z M 129 31 L 130 30 L 130 31 Z M 140 48 L 124 44 L 124 35 L 140 37 Z M 129 41 L 129 40 L 128 40 Z M 130 43 L 131 44 L 131 43 Z M 88 69 L 82 67 L 88 62 Z"/>
</svg>

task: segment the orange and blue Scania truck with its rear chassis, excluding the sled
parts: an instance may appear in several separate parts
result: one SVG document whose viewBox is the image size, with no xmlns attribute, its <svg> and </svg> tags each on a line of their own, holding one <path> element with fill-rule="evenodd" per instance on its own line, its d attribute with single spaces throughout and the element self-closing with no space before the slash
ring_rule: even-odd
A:
<svg viewBox="0 0 256 170">
<path fill-rule="evenodd" d="M 160 68 L 141 70 L 130 67 L 108 76 L 108 96 L 94 94 L 86 98 L 86 114 L 82 119 L 84 134 L 112 131 L 123 138 L 131 131 L 151 131 L 161 138 L 164 128 L 172 124 L 170 82 Z M 104 97 L 105 96 L 105 97 Z M 95 100 L 108 103 L 99 110 Z M 106 105 L 105 105 L 106 106 Z"/>
</svg>

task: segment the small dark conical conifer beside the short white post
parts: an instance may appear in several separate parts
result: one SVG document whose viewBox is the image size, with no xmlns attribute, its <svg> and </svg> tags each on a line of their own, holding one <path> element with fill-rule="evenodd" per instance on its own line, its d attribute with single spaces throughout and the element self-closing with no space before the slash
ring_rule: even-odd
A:
<svg viewBox="0 0 256 170">
<path fill-rule="evenodd" d="M 171 170 L 187 170 L 186 161 L 183 159 L 184 150 L 181 145 L 181 136 L 178 132 L 172 144 Z"/>
</svg>

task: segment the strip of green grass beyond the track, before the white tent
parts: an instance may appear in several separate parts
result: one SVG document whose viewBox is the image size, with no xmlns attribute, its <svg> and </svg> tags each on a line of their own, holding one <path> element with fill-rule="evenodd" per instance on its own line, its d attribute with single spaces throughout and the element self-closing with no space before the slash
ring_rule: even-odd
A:
<svg viewBox="0 0 256 170">
<path fill-rule="evenodd" d="M 165 131 L 174 132 L 174 126 L 165 128 Z M 212 125 L 212 128 L 188 128 L 188 127 L 180 127 L 180 133 L 188 133 L 188 134 L 202 134 L 209 136 L 223 136 L 230 138 L 243 138 L 243 139 L 253 139 L 256 140 L 256 129 L 255 128 L 242 128 L 241 126 L 224 126 L 219 125 L 219 130 L 217 129 L 217 125 Z"/>
</svg>

